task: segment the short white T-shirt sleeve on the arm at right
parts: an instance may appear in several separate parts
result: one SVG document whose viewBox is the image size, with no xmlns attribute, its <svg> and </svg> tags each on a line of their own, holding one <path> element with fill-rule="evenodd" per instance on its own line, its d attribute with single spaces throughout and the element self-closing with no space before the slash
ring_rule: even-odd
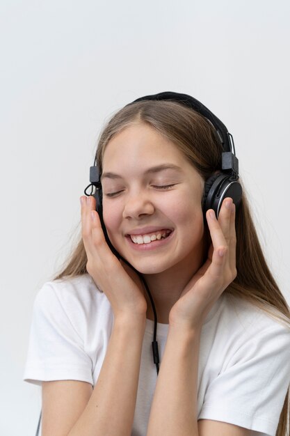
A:
<svg viewBox="0 0 290 436">
<path fill-rule="evenodd" d="M 275 436 L 290 382 L 290 330 L 253 334 L 211 381 L 198 419 L 224 421 Z"/>
</svg>

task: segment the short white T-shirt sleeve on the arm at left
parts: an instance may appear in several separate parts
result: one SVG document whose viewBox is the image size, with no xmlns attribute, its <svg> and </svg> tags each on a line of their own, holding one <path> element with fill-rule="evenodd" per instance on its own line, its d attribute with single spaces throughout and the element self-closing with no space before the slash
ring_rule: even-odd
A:
<svg viewBox="0 0 290 436">
<path fill-rule="evenodd" d="M 92 380 L 92 361 L 83 338 L 50 282 L 35 297 L 23 380 L 41 385 L 51 380 Z"/>
</svg>

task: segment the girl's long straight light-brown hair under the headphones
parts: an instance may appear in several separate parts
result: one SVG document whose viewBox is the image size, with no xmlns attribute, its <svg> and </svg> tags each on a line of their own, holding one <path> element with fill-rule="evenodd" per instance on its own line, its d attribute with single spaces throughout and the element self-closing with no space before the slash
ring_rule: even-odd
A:
<svg viewBox="0 0 290 436">
<path fill-rule="evenodd" d="M 175 143 L 204 180 L 220 169 L 222 146 L 216 139 L 214 127 L 204 117 L 177 102 L 143 100 L 120 109 L 101 132 L 96 153 L 97 165 L 101 171 L 108 141 L 136 123 L 150 125 L 163 137 Z M 86 263 L 86 251 L 80 236 L 76 247 L 54 280 L 86 274 Z M 248 300 L 290 328 L 289 306 L 275 283 L 261 250 L 245 189 L 236 210 L 236 270 L 236 279 L 227 287 L 225 293 Z M 289 423 L 288 389 L 276 436 L 286 436 Z"/>
</svg>

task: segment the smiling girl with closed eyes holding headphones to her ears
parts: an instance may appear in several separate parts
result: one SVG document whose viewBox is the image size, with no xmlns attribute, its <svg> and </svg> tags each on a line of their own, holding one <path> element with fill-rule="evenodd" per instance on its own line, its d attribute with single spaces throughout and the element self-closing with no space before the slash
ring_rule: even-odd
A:
<svg viewBox="0 0 290 436">
<path fill-rule="evenodd" d="M 33 306 L 42 436 L 287 434 L 289 307 L 237 176 L 208 207 L 225 132 L 191 102 L 138 99 L 99 138 L 82 238 Z"/>
</svg>

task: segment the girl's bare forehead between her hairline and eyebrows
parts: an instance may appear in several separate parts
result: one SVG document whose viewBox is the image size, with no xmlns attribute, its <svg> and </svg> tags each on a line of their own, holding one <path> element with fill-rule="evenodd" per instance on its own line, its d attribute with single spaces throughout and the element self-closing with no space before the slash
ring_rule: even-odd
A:
<svg viewBox="0 0 290 436">
<path fill-rule="evenodd" d="M 103 171 L 122 171 L 130 164 L 162 164 L 172 162 L 179 166 L 193 166 L 169 139 L 145 124 L 126 127 L 108 142 L 104 151 Z"/>
</svg>

